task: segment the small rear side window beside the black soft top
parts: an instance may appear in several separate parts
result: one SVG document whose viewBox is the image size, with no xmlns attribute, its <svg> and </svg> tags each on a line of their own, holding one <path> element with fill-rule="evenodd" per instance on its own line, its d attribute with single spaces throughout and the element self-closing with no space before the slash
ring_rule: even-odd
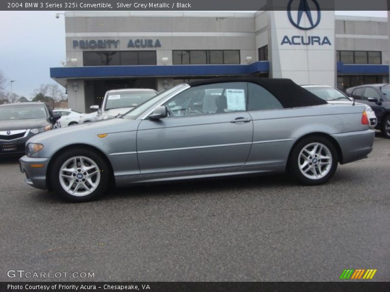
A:
<svg viewBox="0 0 390 292">
<path fill-rule="evenodd" d="M 248 83 L 248 111 L 283 109 L 273 94 L 254 83 Z"/>
</svg>

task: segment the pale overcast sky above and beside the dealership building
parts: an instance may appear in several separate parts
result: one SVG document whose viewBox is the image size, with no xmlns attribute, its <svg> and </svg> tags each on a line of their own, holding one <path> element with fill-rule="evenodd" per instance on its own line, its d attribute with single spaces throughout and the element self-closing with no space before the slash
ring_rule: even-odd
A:
<svg viewBox="0 0 390 292">
<path fill-rule="evenodd" d="M 58 11 L 61 12 L 61 11 Z M 338 11 L 337 15 L 387 17 L 387 11 Z M 13 92 L 27 98 L 42 83 L 54 83 L 49 68 L 65 56 L 64 18 L 56 11 L 0 11 L 0 70 L 15 79 Z M 10 84 L 7 83 L 10 91 Z"/>
</svg>

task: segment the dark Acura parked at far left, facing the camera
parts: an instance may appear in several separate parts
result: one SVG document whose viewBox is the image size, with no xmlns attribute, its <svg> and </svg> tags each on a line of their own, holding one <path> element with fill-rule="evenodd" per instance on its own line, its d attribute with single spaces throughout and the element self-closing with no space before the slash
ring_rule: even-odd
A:
<svg viewBox="0 0 390 292">
<path fill-rule="evenodd" d="M 59 114 L 42 102 L 0 105 L 0 155 L 24 154 L 25 142 L 53 129 Z"/>
</svg>

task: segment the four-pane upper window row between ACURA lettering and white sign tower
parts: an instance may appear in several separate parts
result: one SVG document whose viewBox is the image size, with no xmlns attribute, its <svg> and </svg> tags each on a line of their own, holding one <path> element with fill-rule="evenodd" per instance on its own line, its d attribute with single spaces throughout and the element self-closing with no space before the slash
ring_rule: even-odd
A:
<svg viewBox="0 0 390 292">
<path fill-rule="evenodd" d="M 239 64 L 239 50 L 176 50 L 172 51 L 174 65 L 188 64 Z"/>
</svg>

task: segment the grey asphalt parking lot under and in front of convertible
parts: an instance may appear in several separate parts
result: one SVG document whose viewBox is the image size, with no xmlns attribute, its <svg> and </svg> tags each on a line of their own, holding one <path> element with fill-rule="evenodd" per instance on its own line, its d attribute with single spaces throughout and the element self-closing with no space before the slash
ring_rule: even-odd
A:
<svg viewBox="0 0 390 292">
<path fill-rule="evenodd" d="M 287 175 L 116 189 L 66 203 L 0 160 L 0 281 L 9 270 L 93 272 L 94 281 L 390 280 L 390 140 L 330 183 Z M 58 280 L 79 281 L 81 278 Z"/>
</svg>

